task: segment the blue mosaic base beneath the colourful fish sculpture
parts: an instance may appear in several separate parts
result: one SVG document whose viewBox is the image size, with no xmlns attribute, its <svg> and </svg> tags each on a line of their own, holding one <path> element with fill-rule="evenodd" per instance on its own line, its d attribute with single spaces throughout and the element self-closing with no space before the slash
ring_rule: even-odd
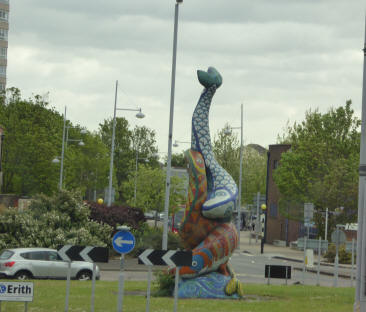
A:
<svg viewBox="0 0 366 312">
<path fill-rule="evenodd" d="M 230 276 L 217 272 L 192 279 L 181 279 L 178 286 L 178 297 L 186 299 L 239 299 L 237 294 L 228 296 L 225 293 L 225 287 L 230 280 Z"/>
</svg>

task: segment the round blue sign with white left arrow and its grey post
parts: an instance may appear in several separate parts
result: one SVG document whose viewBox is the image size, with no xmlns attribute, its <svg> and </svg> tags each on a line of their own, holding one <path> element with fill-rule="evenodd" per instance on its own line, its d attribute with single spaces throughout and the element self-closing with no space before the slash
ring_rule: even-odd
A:
<svg viewBox="0 0 366 312">
<path fill-rule="evenodd" d="M 124 263 L 125 263 L 125 254 L 129 253 L 135 248 L 135 237 L 129 232 L 129 228 L 126 226 L 120 227 L 119 232 L 114 234 L 112 239 L 112 245 L 115 251 L 121 254 L 121 263 L 119 270 L 119 279 L 118 279 L 118 303 L 117 303 L 117 312 L 122 312 L 122 304 L 123 304 L 123 287 L 124 287 Z"/>
</svg>

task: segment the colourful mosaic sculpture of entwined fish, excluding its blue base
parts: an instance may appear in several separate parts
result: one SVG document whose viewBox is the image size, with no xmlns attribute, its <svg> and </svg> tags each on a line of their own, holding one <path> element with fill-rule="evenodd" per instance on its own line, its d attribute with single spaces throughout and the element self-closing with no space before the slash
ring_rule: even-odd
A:
<svg viewBox="0 0 366 312">
<path fill-rule="evenodd" d="M 213 67 L 207 72 L 199 70 L 197 75 L 204 90 L 192 117 L 191 149 L 185 153 L 189 189 L 179 230 L 184 247 L 192 250 L 193 259 L 192 266 L 179 268 L 179 274 L 182 278 L 197 278 L 209 272 L 231 276 L 225 291 L 241 297 L 242 284 L 228 264 L 238 244 L 238 232 L 230 222 L 238 189 L 214 158 L 209 131 L 211 101 L 222 77 Z"/>
</svg>

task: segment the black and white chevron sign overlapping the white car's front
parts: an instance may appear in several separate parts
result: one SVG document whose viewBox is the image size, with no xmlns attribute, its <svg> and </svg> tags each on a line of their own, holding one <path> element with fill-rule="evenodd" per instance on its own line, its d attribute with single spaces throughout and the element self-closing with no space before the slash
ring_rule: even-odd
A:
<svg viewBox="0 0 366 312">
<path fill-rule="evenodd" d="M 57 252 L 64 261 L 108 262 L 109 258 L 106 247 L 64 245 Z"/>
</svg>

